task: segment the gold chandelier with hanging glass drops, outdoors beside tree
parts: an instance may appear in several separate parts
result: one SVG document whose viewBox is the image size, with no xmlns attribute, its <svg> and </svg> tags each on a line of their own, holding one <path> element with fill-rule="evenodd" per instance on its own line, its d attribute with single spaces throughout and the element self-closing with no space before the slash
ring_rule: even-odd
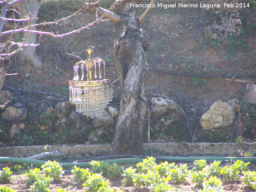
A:
<svg viewBox="0 0 256 192">
<path fill-rule="evenodd" d="M 102 113 L 109 101 L 112 101 L 113 85 L 110 79 L 105 78 L 105 61 L 100 58 L 91 59 L 92 49 L 87 49 L 86 53 L 89 55 L 87 61 L 81 60 L 74 65 L 74 79 L 69 81 L 69 100 L 76 104 L 76 112 L 93 118 Z"/>
</svg>

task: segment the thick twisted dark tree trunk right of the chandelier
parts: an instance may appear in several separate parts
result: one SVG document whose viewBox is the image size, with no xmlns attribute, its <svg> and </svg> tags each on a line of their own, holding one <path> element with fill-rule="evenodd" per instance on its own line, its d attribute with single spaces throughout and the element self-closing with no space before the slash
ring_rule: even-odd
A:
<svg viewBox="0 0 256 192">
<path fill-rule="evenodd" d="M 144 51 L 147 51 L 149 44 L 140 30 L 136 10 L 130 8 L 130 1 L 124 1 L 123 4 L 122 9 L 117 10 L 121 12 L 122 21 L 117 26 L 112 42 L 112 59 L 123 88 L 113 154 L 141 155 L 147 104 L 143 92 L 143 79 L 148 66 Z"/>
</svg>

